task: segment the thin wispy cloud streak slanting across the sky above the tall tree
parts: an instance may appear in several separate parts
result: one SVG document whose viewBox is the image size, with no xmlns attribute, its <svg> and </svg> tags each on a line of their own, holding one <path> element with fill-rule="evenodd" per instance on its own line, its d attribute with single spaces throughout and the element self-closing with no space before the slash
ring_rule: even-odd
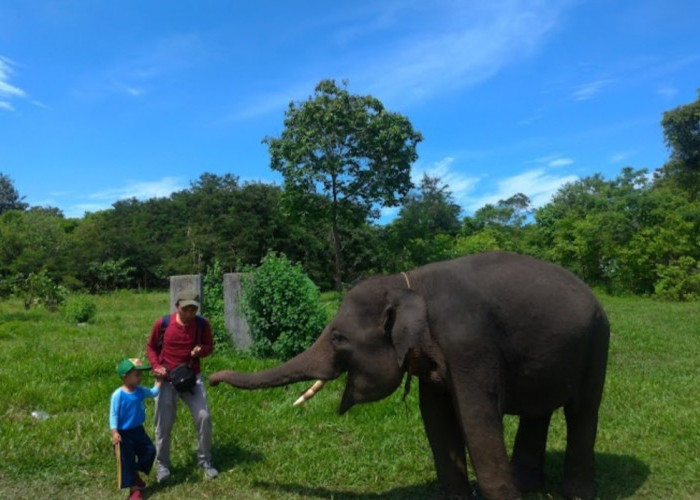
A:
<svg viewBox="0 0 700 500">
<path fill-rule="evenodd" d="M 232 112 L 228 119 L 280 112 L 290 100 L 305 99 L 318 80 L 326 77 L 348 78 L 351 92 L 369 92 L 392 107 L 397 105 L 393 101 L 424 99 L 478 85 L 535 53 L 572 4 L 570 0 L 413 2 L 405 10 L 424 9 L 422 26 L 401 29 L 410 36 L 406 35 L 394 45 L 373 44 L 367 48 L 361 43 L 365 33 L 397 30 L 405 21 L 397 14 L 403 11 L 403 4 L 383 2 L 380 5 L 384 10 L 369 9 L 365 25 L 353 25 L 352 34 L 346 33 L 339 42 L 344 44 L 350 37 L 357 47 L 364 48 L 344 50 L 347 57 L 325 61 L 319 68 L 302 68 L 305 72 L 302 79 L 289 87 L 275 87 L 270 92 L 242 100 L 250 104 Z M 377 22 L 379 18 L 381 22 Z M 436 23 L 439 23 L 439 30 Z M 356 60 L 361 62 L 353 62 Z"/>
</svg>

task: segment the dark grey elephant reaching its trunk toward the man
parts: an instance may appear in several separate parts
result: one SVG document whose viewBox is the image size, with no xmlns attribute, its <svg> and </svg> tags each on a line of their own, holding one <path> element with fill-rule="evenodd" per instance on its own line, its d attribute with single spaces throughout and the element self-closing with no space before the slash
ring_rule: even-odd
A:
<svg viewBox="0 0 700 500">
<path fill-rule="evenodd" d="M 343 414 L 389 396 L 404 375 L 416 377 L 438 482 L 450 498 L 471 498 L 467 452 L 482 497 L 517 499 L 543 487 L 550 418 L 563 407 L 562 493 L 591 498 L 609 337 L 605 311 L 574 274 L 494 251 L 367 278 L 307 350 L 268 370 L 222 370 L 209 381 L 262 389 L 347 373 Z M 510 460 L 505 414 L 519 416 Z"/>
</svg>

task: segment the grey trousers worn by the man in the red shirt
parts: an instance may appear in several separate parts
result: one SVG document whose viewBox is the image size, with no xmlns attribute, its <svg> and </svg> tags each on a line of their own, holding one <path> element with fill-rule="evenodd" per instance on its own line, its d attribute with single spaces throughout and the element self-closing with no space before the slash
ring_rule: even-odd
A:
<svg viewBox="0 0 700 500">
<path fill-rule="evenodd" d="M 156 463 L 159 468 L 170 468 L 170 431 L 177 416 L 177 400 L 182 399 L 190 409 L 197 429 L 197 463 L 211 464 L 211 416 L 207 405 L 207 391 L 202 374 L 197 375 L 193 393 L 178 393 L 170 381 L 163 381 L 156 396 Z"/>
</svg>

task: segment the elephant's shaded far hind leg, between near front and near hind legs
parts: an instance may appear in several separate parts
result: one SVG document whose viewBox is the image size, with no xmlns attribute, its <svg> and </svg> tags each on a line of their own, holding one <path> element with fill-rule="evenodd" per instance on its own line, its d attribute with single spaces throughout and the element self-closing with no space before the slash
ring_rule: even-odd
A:
<svg viewBox="0 0 700 500">
<path fill-rule="evenodd" d="M 551 413 L 541 417 L 520 417 L 511 467 L 522 492 L 544 486 L 544 458 L 551 417 Z"/>
</svg>

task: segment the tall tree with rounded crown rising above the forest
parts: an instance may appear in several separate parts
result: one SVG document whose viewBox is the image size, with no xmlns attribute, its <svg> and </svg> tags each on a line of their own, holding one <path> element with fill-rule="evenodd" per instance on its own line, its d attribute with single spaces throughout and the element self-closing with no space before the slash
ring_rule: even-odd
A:
<svg viewBox="0 0 700 500">
<path fill-rule="evenodd" d="M 342 287 L 341 226 L 379 216 L 378 207 L 397 206 L 412 187 L 411 163 L 423 139 L 408 118 L 389 112 L 376 98 L 350 94 L 347 82 L 322 80 L 315 94 L 291 102 L 280 137 L 266 137 L 273 170 L 285 180 L 292 210 L 330 226 L 335 285 Z M 322 194 L 327 212 L 307 208 L 309 195 Z"/>
</svg>

